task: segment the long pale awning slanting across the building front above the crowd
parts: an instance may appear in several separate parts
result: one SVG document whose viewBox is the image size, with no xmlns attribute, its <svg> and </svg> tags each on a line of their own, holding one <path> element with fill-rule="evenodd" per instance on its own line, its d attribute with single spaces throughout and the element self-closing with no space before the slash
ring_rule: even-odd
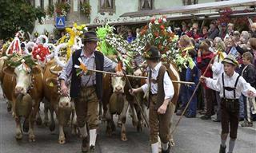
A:
<svg viewBox="0 0 256 153">
<path fill-rule="evenodd" d="M 189 6 L 174 6 L 166 9 L 142 10 L 137 12 L 128 12 L 120 17 L 143 17 L 162 14 L 182 14 L 198 10 L 218 10 L 226 7 L 256 6 L 255 0 L 230 0 L 222 2 L 206 2 Z"/>
</svg>

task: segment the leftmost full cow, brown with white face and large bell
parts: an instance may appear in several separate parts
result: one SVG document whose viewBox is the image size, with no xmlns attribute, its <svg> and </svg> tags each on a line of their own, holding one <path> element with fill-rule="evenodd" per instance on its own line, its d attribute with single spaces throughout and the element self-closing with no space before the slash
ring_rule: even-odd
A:
<svg viewBox="0 0 256 153">
<path fill-rule="evenodd" d="M 38 65 L 29 67 L 26 62 L 2 69 L 2 90 L 12 102 L 16 122 L 16 139 L 22 139 L 21 117 L 25 117 L 23 131 L 28 124 L 29 141 L 34 142 L 34 120 L 42 100 L 42 69 Z M 25 127 L 24 127 L 25 126 Z"/>
</svg>

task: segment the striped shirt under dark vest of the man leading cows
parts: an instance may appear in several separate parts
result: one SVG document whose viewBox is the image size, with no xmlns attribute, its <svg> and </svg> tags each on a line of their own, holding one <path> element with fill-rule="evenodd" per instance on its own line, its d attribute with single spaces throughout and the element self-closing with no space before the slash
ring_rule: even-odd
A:
<svg viewBox="0 0 256 153">
<path fill-rule="evenodd" d="M 92 53 L 90 57 L 86 57 L 82 49 L 80 57 L 82 59 L 82 62 L 86 65 L 88 69 L 96 69 L 94 53 Z M 114 71 L 114 68 L 116 66 L 117 64 L 114 61 L 111 61 L 108 57 L 104 56 L 104 64 L 103 64 L 104 71 L 112 72 Z M 65 81 L 68 80 L 68 78 L 71 77 L 71 73 L 73 69 L 72 67 L 73 67 L 73 60 L 72 60 L 72 57 L 70 57 L 69 61 L 66 63 L 66 65 L 62 69 L 62 73 L 60 74 L 59 79 L 65 80 Z M 96 84 L 96 73 L 83 73 L 81 77 L 82 86 L 92 86 L 95 84 Z"/>
</svg>

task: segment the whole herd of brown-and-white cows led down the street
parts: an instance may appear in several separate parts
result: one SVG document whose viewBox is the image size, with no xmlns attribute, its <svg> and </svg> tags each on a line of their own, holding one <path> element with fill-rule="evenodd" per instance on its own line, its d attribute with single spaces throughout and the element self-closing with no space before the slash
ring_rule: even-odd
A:
<svg viewBox="0 0 256 153">
<path fill-rule="evenodd" d="M 56 48 L 59 47 L 57 46 Z M 59 65 L 57 62 L 59 61 L 58 52 L 57 56 L 52 56 L 43 65 L 42 63 L 37 63 L 33 67 L 29 67 L 24 62 L 15 67 L 10 66 L 6 64 L 7 60 L 7 56 L 0 58 L 0 81 L 3 95 L 7 100 L 7 109 L 12 112 L 16 123 L 16 139 L 22 139 L 22 134 L 28 132 L 29 141 L 34 142 L 34 123 L 45 124 L 49 126 L 50 131 L 54 131 L 54 113 L 58 120 L 58 143 L 66 143 L 64 127 L 69 127 L 72 133 L 78 134 L 74 102 L 70 97 L 62 96 L 60 93 L 58 75 L 61 73 L 63 65 Z M 180 80 L 178 70 L 173 64 L 168 64 L 166 67 L 171 80 Z M 134 70 L 134 75 L 146 76 L 146 69 L 138 68 Z M 145 84 L 146 80 L 130 78 L 130 83 L 133 88 L 137 88 Z M 180 84 L 174 83 L 175 93 L 172 104 L 176 104 L 178 100 L 179 87 Z M 129 87 L 124 77 L 104 75 L 103 98 L 98 107 L 99 119 L 107 121 L 106 134 L 111 135 L 115 131 L 113 115 L 118 114 L 118 126 L 122 127 L 121 139 L 123 141 L 127 140 L 125 125 L 127 114 L 132 117 L 132 123 L 138 131 L 142 131 L 142 128 L 146 125 L 145 120 L 142 118 L 142 113 L 147 114 L 144 96 L 142 94 L 137 95 L 143 108 L 141 110 L 134 100 L 134 96 L 131 96 L 128 91 Z M 39 113 L 41 103 L 44 104 L 43 120 Z M 50 112 L 50 120 L 48 112 Z M 174 111 L 171 113 L 174 113 Z M 23 121 L 22 124 L 21 121 Z M 174 144 L 172 136 L 170 143 Z"/>
</svg>

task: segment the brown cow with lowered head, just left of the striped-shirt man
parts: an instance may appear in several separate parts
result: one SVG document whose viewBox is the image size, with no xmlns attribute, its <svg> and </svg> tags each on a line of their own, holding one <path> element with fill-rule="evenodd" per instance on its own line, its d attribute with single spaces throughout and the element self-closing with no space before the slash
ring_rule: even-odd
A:
<svg viewBox="0 0 256 153">
<path fill-rule="evenodd" d="M 49 61 L 43 77 L 44 100 L 45 100 L 45 119 L 44 123 L 48 122 L 48 109 L 50 109 L 50 131 L 54 131 L 54 112 L 57 115 L 59 126 L 58 143 L 66 143 L 64 134 L 64 127 L 71 125 L 72 133 L 77 134 L 76 128 L 76 113 L 74 109 L 74 102 L 71 101 L 70 96 L 61 96 L 59 91 L 58 74 L 62 71 L 62 67 L 58 66 L 55 59 Z M 47 106 L 47 104 L 49 104 Z"/>
</svg>

